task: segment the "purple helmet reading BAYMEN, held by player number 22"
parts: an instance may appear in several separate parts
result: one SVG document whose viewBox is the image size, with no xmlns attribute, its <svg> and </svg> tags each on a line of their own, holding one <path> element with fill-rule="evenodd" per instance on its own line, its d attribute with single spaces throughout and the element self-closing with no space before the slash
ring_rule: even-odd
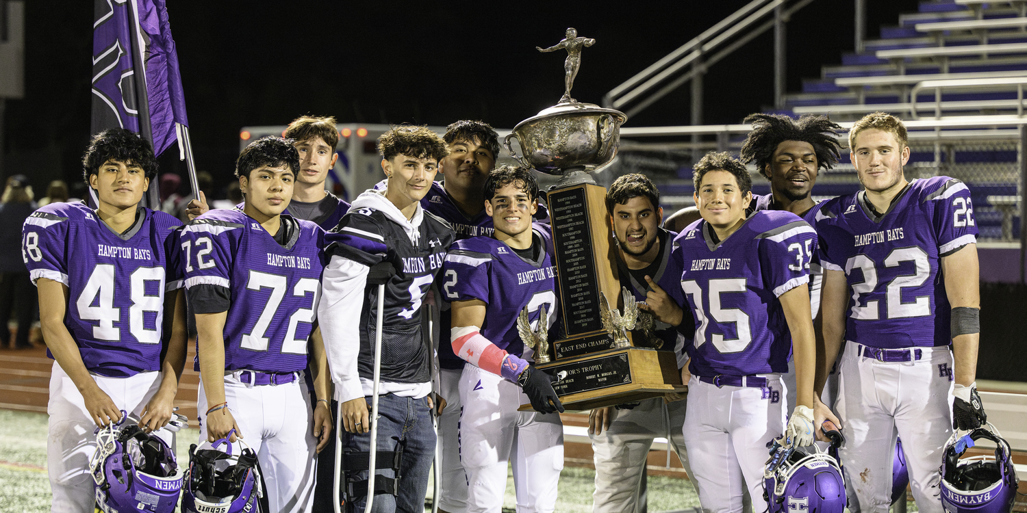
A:
<svg viewBox="0 0 1027 513">
<path fill-rule="evenodd" d="M 1016 469 L 1010 460 L 1010 444 L 994 426 L 980 427 L 945 443 L 942 463 L 942 507 L 948 513 L 1007 513 L 1017 496 Z M 995 456 L 959 457 L 974 442 L 986 438 L 995 443 Z"/>
</svg>

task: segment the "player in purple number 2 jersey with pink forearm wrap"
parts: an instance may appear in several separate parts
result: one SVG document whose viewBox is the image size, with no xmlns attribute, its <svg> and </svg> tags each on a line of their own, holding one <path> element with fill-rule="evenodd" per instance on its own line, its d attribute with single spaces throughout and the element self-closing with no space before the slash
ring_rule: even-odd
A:
<svg viewBox="0 0 1027 513">
<path fill-rule="evenodd" d="M 564 408 L 554 379 L 531 366 L 534 350 L 525 347 L 518 318 L 527 311 L 540 333 L 557 319 L 553 242 L 547 226 L 532 223 L 538 184 L 531 170 L 497 167 L 485 199 L 495 231 L 456 242 L 443 275 L 443 294 L 453 302 L 453 350 L 470 363 L 460 377 L 459 424 L 467 511 L 501 509 L 509 462 L 518 509 L 551 512 L 564 436 L 560 417 L 545 413 Z M 518 411 L 526 402 L 537 411 Z"/>
</svg>

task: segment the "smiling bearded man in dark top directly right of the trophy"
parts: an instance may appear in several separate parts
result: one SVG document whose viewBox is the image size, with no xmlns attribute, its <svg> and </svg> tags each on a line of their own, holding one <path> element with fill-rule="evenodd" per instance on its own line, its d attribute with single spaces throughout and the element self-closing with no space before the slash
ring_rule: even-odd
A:
<svg viewBox="0 0 1027 513">
<path fill-rule="evenodd" d="M 606 209 L 613 226 L 621 283 L 646 306 L 660 308 L 661 303 L 674 302 L 680 309 L 685 301 L 680 285 L 680 261 L 671 259 L 672 243 L 678 234 L 659 228 L 663 218 L 659 190 L 644 174 L 624 174 L 607 190 Z M 650 280 L 662 291 L 651 288 Z M 691 313 L 684 315 L 688 319 L 682 325 L 691 326 Z M 687 327 L 682 330 L 685 332 L 660 322 L 652 333 L 653 340 L 648 340 L 647 333 L 639 329 L 633 337 L 638 346 L 673 351 L 684 374 L 682 383 L 687 384 L 685 340 L 693 333 Z M 588 434 L 596 463 L 593 511 L 642 511 L 644 469 L 653 438 L 667 437 L 685 471 L 691 475 L 682 437 L 686 401 L 684 394 L 669 396 L 594 409 L 588 415 Z M 694 484 L 694 481 L 689 482 Z"/>
</svg>

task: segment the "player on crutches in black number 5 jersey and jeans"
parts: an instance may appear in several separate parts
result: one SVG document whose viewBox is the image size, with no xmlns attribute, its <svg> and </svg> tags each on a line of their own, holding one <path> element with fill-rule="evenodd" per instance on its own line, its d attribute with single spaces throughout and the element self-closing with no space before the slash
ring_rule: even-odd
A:
<svg viewBox="0 0 1027 513">
<path fill-rule="evenodd" d="M 375 489 L 387 492 L 376 498 L 375 510 L 420 511 L 435 450 L 428 396 L 432 356 L 423 341 L 422 307 L 453 242 L 449 225 L 424 211 L 420 201 L 448 151 L 442 137 L 425 126 L 400 126 L 385 132 L 378 151 L 385 188 L 360 194 L 329 234 L 326 252 L 331 261 L 325 270 L 319 315 L 335 396 L 342 403 L 346 430 L 342 442 L 348 455 L 367 453 L 379 315 L 378 286 L 369 285 L 367 277 L 371 267 L 382 262 L 396 269 L 385 286 L 381 312 L 377 447 L 379 462 L 387 461 L 383 455 L 398 450 L 403 458 L 398 469 L 379 470 L 383 475 L 376 477 Z M 353 469 L 351 465 L 347 469 Z M 365 491 L 350 502 L 357 512 L 363 511 L 366 501 L 367 471 L 359 475 L 365 479 Z"/>
</svg>

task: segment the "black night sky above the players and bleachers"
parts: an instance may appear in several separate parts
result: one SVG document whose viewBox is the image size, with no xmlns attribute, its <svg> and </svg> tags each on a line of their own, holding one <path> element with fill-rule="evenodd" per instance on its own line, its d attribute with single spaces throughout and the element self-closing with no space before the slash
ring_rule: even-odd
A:
<svg viewBox="0 0 1027 513">
<path fill-rule="evenodd" d="M 566 52 L 539 53 L 568 27 L 585 48 L 573 95 L 603 94 L 740 6 L 675 2 L 227 2 L 168 0 L 199 169 L 227 184 L 245 125 L 302 114 L 340 122 L 446 125 L 483 119 L 510 128 L 563 93 Z M 896 25 L 915 0 L 868 2 L 868 36 Z M 52 179 L 81 180 L 89 137 L 92 2 L 26 2 L 26 97 L 8 101 L 6 174 L 29 174 L 42 196 Z M 886 4 L 886 5 L 878 5 Z M 852 2 L 817 0 L 788 26 L 788 89 L 851 51 Z M 772 31 L 706 78 L 706 123 L 736 123 L 773 103 Z M 687 124 L 686 85 L 627 126 Z M 161 171 L 185 173 L 178 151 Z M 40 190 L 42 189 L 42 190 Z"/>
</svg>

